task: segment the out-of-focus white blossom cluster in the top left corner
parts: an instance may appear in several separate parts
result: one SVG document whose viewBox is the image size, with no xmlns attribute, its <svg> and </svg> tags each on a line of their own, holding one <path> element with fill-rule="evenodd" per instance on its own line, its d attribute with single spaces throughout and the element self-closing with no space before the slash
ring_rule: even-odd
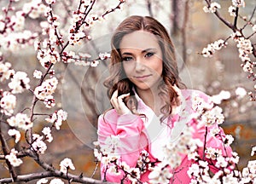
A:
<svg viewBox="0 0 256 184">
<path fill-rule="evenodd" d="M 9 9 L 2 9 L 4 14 L 9 15 L 9 12 L 15 11 L 12 3 L 13 1 L 10 1 Z M 44 14 L 45 9 L 46 6 L 41 0 L 34 0 L 24 3 L 22 9 L 9 17 L 0 16 L 1 47 L 4 50 L 8 49 L 15 52 L 31 45 L 33 40 L 38 37 L 38 33 L 24 30 L 26 17 L 37 19 L 41 14 Z"/>
</svg>

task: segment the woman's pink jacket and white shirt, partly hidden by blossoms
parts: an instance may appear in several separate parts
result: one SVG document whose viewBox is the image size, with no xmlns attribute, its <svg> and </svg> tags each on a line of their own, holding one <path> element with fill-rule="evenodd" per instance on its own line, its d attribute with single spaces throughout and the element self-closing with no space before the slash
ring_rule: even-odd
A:
<svg viewBox="0 0 256 184">
<path fill-rule="evenodd" d="M 182 89 L 183 100 L 185 102 L 185 111 L 188 112 L 187 118 L 185 118 L 186 124 L 189 127 L 195 129 L 193 132 L 194 139 L 200 139 L 201 141 L 205 140 L 206 127 L 197 126 L 198 121 L 196 120 L 194 113 L 195 111 L 192 108 L 192 96 L 199 96 L 208 104 L 211 104 L 210 97 L 201 91 L 192 90 L 192 89 Z M 172 118 L 166 118 L 164 122 L 160 123 L 160 118 L 157 117 L 154 112 L 144 104 L 144 102 L 138 97 L 138 109 L 137 111 L 140 114 L 144 114 L 146 118 L 142 118 L 135 114 L 125 114 L 119 116 L 119 114 L 112 109 L 106 114 L 102 114 L 98 118 L 98 141 L 100 146 L 104 146 L 105 141 L 108 137 L 112 135 L 117 135 L 119 137 L 118 153 L 120 160 L 125 162 L 130 167 L 135 167 L 137 165 L 137 159 L 139 158 L 140 153 L 145 150 L 149 154 L 151 161 L 156 159 L 162 160 L 164 157 L 163 152 L 161 151 L 162 147 L 165 146 L 167 141 L 170 139 L 175 139 L 176 136 L 180 135 L 183 131 L 182 125 L 174 129 L 175 124 L 182 124 L 178 118 L 178 114 L 172 116 Z M 231 155 L 231 148 L 224 147 L 222 139 L 224 138 L 223 129 L 220 130 L 218 136 L 209 135 L 211 129 L 216 128 L 218 124 L 209 126 L 208 136 L 206 140 L 206 147 L 218 148 L 223 152 L 223 155 Z M 174 134 L 173 134 L 174 133 Z M 175 135 L 176 134 L 176 135 Z M 198 151 L 201 158 L 203 157 L 203 147 Z M 190 178 L 187 174 L 189 166 L 192 164 L 192 161 L 188 159 L 188 156 L 185 154 L 180 155 L 182 158 L 181 164 L 175 169 L 178 170 L 175 175 L 173 175 L 172 183 L 189 183 Z M 216 172 L 215 167 L 211 167 L 212 172 Z M 107 170 L 107 171 L 106 171 Z M 143 173 L 141 175 L 140 181 L 149 182 L 148 174 L 150 171 Z M 101 174 L 102 180 L 118 182 L 124 177 L 124 173 L 120 175 L 115 175 L 108 170 L 108 165 L 101 165 Z M 125 180 L 124 183 L 131 183 L 131 181 Z"/>
</svg>

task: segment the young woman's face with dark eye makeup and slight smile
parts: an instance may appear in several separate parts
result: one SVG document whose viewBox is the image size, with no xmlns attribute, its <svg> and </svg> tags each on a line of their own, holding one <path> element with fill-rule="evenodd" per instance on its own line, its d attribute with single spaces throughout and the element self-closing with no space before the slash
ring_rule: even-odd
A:
<svg viewBox="0 0 256 184">
<path fill-rule="evenodd" d="M 122 38 L 119 47 L 125 74 L 137 89 L 157 87 L 163 70 L 157 38 L 149 32 L 132 32 Z"/>
</svg>

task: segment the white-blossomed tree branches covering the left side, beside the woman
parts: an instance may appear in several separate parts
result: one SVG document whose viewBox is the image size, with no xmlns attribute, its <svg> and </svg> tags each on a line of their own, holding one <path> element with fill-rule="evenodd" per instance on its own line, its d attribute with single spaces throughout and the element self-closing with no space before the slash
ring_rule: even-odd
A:
<svg viewBox="0 0 256 184">
<path fill-rule="evenodd" d="M 68 7 L 72 1 L 62 1 Z M 54 66 L 59 63 L 74 63 L 83 66 L 97 66 L 99 60 L 108 58 L 108 54 L 99 54 L 96 59 L 90 59 L 87 53 L 76 55 L 72 48 L 82 42 L 90 41 L 90 26 L 104 20 L 108 14 L 120 9 L 123 1 L 117 1 L 113 9 L 106 9 L 102 14 L 92 13 L 96 6 L 95 0 L 80 0 L 77 9 L 65 14 L 66 17 L 55 14 L 55 0 L 32 0 L 27 3 L 19 3 L 19 0 L 9 0 L 3 7 L 0 15 L 0 159 L 5 162 L 9 170 L 9 177 L 1 178 L 0 183 L 18 181 L 32 181 L 38 179 L 37 183 L 47 183 L 46 178 L 52 177 L 49 183 L 64 183 L 61 179 L 71 183 L 102 183 L 90 177 L 72 175 L 70 170 L 75 166 L 70 158 L 60 160 L 60 165 L 46 163 L 40 155 L 47 152 L 46 142 L 51 142 L 54 136 L 53 129 L 61 129 L 63 121 L 67 120 L 67 112 L 55 109 L 55 89 L 58 79 L 55 77 Z M 20 4 L 22 5 L 20 8 Z M 67 12 L 66 12 L 67 13 Z M 63 25 L 61 20 L 67 20 Z M 39 30 L 26 26 L 28 20 L 39 20 Z M 65 28 L 67 28 L 65 30 Z M 42 70 L 35 70 L 33 77 L 38 84 L 31 86 L 31 78 L 26 72 L 17 71 L 11 66 L 6 57 L 8 52 L 17 52 L 34 44 L 38 61 Z M 60 65 L 60 64 L 59 64 Z M 31 106 L 23 109 L 16 108 L 17 95 L 30 91 L 32 96 Z M 36 112 L 38 104 L 44 104 L 47 113 Z M 37 117 L 44 117 L 48 125 L 41 132 L 34 130 Z M 46 118 L 45 118 L 46 117 Z M 25 137 L 20 142 L 20 137 Z M 18 147 L 22 145 L 22 147 Z M 26 164 L 23 158 L 31 158 L 44 172 L 18 175 L 16 168 L 20 164 Z M 40 179 L 40 180 L 39 180 Z"/>
</svg>

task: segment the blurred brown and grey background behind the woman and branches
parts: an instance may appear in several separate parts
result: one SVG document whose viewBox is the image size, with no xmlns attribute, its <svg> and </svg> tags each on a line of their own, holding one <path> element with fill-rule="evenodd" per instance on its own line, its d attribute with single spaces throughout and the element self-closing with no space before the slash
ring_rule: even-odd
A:
<svg viewBox="0 0 256 184">
<path fill-rule="evenodd" d="M 218 2 L 222 7 L 219 13 L 232 22 L 233 17 L 228 13 L 231 1 Z M 22 3 L 20 2 L 17 6 L 21 7 Z M 69 27 L 68 14 L 76 9 L 78 3 L 78 0 L 65 0 L 53 6 L 55 14 L 60 15 L 64 35 L 67 35 Z M 103 14 L 118 3 L 119 1 L 116 0 L 96 1 L 93 14 Z M 0 1 L 1 6 L 5 7 L 6 4 L 7 1 Z M 247 91 L 253 90 L 255 82 L 247 79 L 247 74 L 242 72 L 236 43 L 231 40 L 226 48 L 217 51 L 211 58 L 198 54 L 207 47 L 208 43 L 218 39 L 225 40 L 232 33 L 214 14 L 204 13 L 202 8 L 205 5 L 204 1 L 199 0 L 141 0 L 139 3 L 135 0 L 127 0 L 121 5 L 121 9 L 106 15 L 105 20 L 97 21 L 90 26 L 88 30 L 92 37 L 90 41 L 68 49 L 76 53 L 88 53 L 92 58 L 97 58 L 99 53 L 110 52 L 109 43 L 113 30 L 125 17 L 132 14 L 150 15 L 159 20 L 170 32 L 177 48 L 177 60 L 183 83 L 189 89 L 200 89 L 208 95 L 218 95 L 222 90 L 230 91 L 232 97 L 221 104 L 225 115 L 223 128 L 226 134 L 234 135 L 236 138 L 232 147 L 240 155 L 239 169 L 241 169 L 247 165 L 249 159 L 252 159 L 251 147 L 255 146 L 256 141 L 256 106 L 255 102 L 249 101 L 248 95 L 243 98 L 237 97 L 236 89 L 241 87 Z M 247 0 L 246 7 L 240 9 L 241 16 L 249 17 L 255 6 L 255 1 Z M 42 19 L 44 18 L 28 19 L 26 27 L 36 31 L 40 29 L 38 24 Z M 252 22 L 256 22 L 255 14 Z M 238 21 L 238 26 L 244 24 L 243 20 Z M 253 43 L 256 43 L 255 37 L 252 39 Z M 5 57 L 12 63 L 14 69 L 27 72 L 30 78 L 35 69 L 44 71 L 36 56 L 33 46 L 17 52 L 5 52 Z M 76 170 L 72 171 L 73 174 L 84 173 L 84 176 L 91 176 L 98 169 L 92 144 L 97 139 L 97 118 L 110 107 L 106 89 L 102 85 L 108 76 L 108 60 L 101 61 L 96 67 L 57 63 L 54 69 L 55 76 L 59 79 L 58 89 L 55 91 L 56 106 L 47 111 L 54 112 L 63 108 L 67 111 L 68 118 L 60 130 L 53 132 L 54 141 L 48 144 L 48 150 L 42 158 L 47 163 L 53 164 L 55 168 L 59 168 L 62 159 L 72 158 L 76 167 Z M 37 83 L 38 81 L 34 79 L 30 84 L 33 88 Z M 32 95 L 29 92 L 23 93 L 22 96 L 20 95 L 16 112 L 31 104 Z M 44 104 L 37 106 L 36 110 L 37 112 L 46 111 Z M 44 118 L 37 119 L 35 132 L 41 131 L 47 124 Z M 26 161 L 28 164 L 21 164 L 19 167 L 20 173 L 41 170 L 29 158 L 27 160 L 24 158 L 23 162 Z M 0 177 L 6 175 L 8 170 L 1 163 Z M 99 170 L 96 170 L 96 175 L 93 177 L 99 179 Z"/>
</svg>

